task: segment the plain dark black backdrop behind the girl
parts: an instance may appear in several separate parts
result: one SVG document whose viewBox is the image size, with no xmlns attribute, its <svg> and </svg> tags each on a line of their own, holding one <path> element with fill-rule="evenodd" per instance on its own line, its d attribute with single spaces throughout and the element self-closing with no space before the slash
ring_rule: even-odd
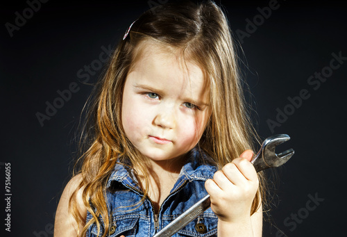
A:
<svg viewBox="0 0 347 237">
<path fill-rule="evenodd" d="M 131 22 L 160 1 L 32 2 L 0 7 L 1 236 L 53 236 L 87 84 Z M 287 236 L 346 236 L 346 8 L 342 1 L 221 4 L 244 50 L 258 133 L 287 133 L 281 149 L 296 152 L 276 170 L 272 223 Z M 264 236 L 282 234 L 266 224 Z"/>
</svg>

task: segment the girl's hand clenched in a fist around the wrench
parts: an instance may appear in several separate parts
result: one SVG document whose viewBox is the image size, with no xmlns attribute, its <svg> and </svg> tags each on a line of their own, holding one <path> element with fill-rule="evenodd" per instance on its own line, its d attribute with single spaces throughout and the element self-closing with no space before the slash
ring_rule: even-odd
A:
<svg viewBox="0 0 347 237">
<path fill-rule="evenodd" d="M 239 158 L 215 172 L 213 179 L 205 182 L 206 191 L 210 195 L 211 209 L 219 220 L 230 222 L 249 218 L 259 186 L 257 172 L 250 162 L 252 157 L 253 152 L 246 150 Z"/>
</svg>

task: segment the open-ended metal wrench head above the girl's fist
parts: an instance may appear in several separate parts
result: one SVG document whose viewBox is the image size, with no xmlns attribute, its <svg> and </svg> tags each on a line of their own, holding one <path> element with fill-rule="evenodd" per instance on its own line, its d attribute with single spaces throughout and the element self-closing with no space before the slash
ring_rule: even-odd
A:
<svg viewBox="0 0 347 237">
<path fill-rule="evenodd" d="M 276 154 L 276 147 L 283 142 L 289 140 L 290 137 L 287 134 L 278 134 L 266 138 L 262 142 L 262 147 L 256 155 L 257 159 L 253 163 L 255 170 L 265 170 L 270 167 L 279 167 L 286 163 L 291 156 L 294 155 L 294 149 L 287 149 L 285 152 Z"/>
</svg>

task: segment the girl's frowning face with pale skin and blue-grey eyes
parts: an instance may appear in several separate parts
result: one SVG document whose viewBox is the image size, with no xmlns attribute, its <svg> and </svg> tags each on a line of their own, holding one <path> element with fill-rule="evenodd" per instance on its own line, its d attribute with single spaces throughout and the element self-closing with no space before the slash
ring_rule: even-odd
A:
<svg viewBox="0 0 347 237">
<path fill-rule="evenodd" d="M 171 48 L 147 44 L 124 85 L 121 120 L 127 138 L 155 163 L 183 157 L 210 117 L 202 70 Z"/>
</svg>

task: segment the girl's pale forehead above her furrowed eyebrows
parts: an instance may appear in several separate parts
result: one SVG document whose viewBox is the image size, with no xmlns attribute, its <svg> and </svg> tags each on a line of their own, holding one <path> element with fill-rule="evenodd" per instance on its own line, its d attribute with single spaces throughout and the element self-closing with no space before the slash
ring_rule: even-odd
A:
<svg viewBox="0 0 347 237">
<path fill-rule="evenodd" d="M 146 41 L 135 53 L 128 79 L 145 83 L 161 90 L 169 88 L 182 97 L 203 99 L 208 102 L 209 90 L 205 71 L 192 60 L 185 60 L 183 51 L 177 47 Z"/>
</svg>

